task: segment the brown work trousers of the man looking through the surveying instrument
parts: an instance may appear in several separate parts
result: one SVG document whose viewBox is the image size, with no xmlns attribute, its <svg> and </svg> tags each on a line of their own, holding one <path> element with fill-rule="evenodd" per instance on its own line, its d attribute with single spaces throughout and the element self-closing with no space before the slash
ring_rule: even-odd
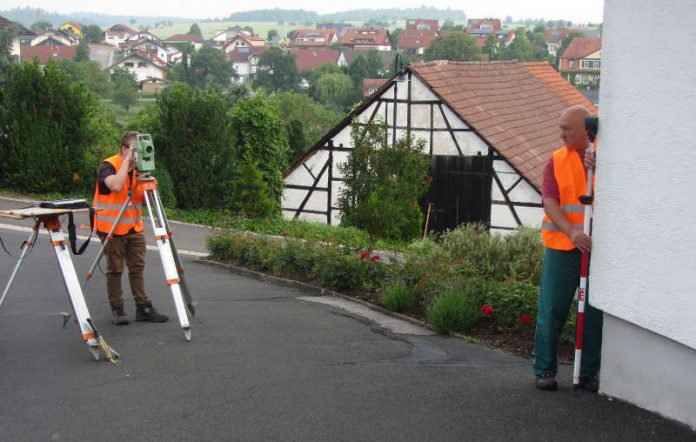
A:
<svg viewBox="0 0 696 442">
<path fill-rule="evenodd" d="M 121 274 L 124 264 L 128 266 L 128 281 L 136 304 L 147 302 L 145 292 L 145 235 L 131 231 L 126 235 L 114 236 L 106 244 L 106 291 L 109 302 L 123 299 Z"/>
</svg>

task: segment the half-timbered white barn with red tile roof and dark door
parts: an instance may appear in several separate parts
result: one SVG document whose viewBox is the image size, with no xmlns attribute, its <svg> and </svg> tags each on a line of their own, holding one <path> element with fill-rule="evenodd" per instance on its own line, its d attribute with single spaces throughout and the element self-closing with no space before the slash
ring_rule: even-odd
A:
<svg viewBox="0 0 696 442">
<path fill-rule="evenodd" d="M 401 78 L 403 77 L 403 78 Z M 368 83 L 369 84 L 369 83 Z M 558 118 L 569 106 L 596 109 L 546 62 L 410 64 L 387 80 L 283 173 L 286 218 L 338 224 L 340 165 L 352 146 L 351 122 L 386 123 L 388 142 L 422 140 L 433 181 L 423 201 L 439 232 L 481 222 L 492 232 L 538 227 L 542 175 L 563 144 Z"/>
</svg>

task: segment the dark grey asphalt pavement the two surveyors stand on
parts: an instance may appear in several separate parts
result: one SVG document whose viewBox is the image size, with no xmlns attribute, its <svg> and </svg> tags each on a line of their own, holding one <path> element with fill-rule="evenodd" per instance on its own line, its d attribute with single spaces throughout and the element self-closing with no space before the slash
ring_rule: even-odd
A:
<svg viewBox="0 0 696 442">
<path fill-rule="evenodd" d="M 13 253 L 28 235 L 16 225 L 0 219 Z M 181 250 L 204 251 L 207 229 L 173 229 Z M 73 257 L 78 275 L 97 250 Z M 240 276 L 195 253 L 182 258 L 197 302 L 191 342 L 176 320 L 111 325 L 104 277 L 90 282 L 87 304 L 122 356 L 116 366 L 94 361 L 74 324 L 61 328 L 70 307 L 48 237 L 39 237 L 0 307 L 1 441 L 696 438 L 630 404 L 574 395 L 568 366 L 559 391 L 538 391 L 527 360 Z M 157 252 L 147 262 L 150 297 L 173 316 Z M 0 255 L 3 286 L 13 265 Z"/>
</svg>

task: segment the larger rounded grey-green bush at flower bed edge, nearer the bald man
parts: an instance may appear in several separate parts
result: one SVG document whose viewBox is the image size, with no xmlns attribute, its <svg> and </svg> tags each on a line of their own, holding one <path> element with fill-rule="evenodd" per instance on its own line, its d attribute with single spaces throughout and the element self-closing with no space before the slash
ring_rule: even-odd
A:
<svg viewBox="0 0 696 442">
<path fill-rule="evenodd" d="M 466 331 L 481 317 L 479 302 L 461 290 L 448 290 L 428 306 L 427 320 L 442 334 Z"/>
</svg>

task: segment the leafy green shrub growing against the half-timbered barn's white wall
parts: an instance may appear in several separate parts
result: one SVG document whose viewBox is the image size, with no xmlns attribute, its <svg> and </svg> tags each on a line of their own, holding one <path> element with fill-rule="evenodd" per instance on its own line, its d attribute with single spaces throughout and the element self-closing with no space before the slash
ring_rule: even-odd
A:
<svg viewBox="0 0 696 442">
<path fill-rule="evenodd" d="M 428 189 L 430 158 L 423 141 L 410 138 L 387 142 L 386 125 L 353 122 L 353 149 L 339 166 L 344 187 L 338 207 L 341 223 L 381 237 L 410 240 L 419 236 L 423 221 L 419 198 Z"/>
</svg>

